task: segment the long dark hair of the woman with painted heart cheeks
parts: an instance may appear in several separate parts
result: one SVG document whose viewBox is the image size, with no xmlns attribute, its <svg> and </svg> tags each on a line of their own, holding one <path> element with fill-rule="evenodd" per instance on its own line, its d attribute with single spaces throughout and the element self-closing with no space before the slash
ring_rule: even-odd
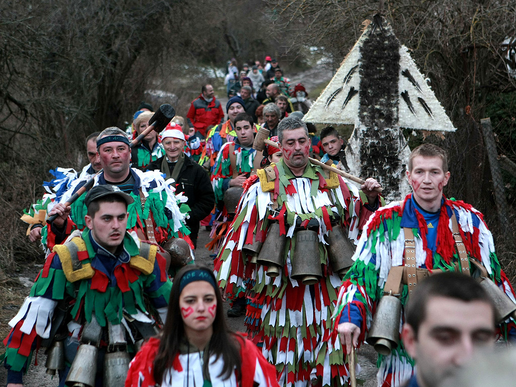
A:
<svg viewBox="0 0 516 387">
<path fill-rule="evenodd" d="M 154 380 L 159 384 L 163 380 L 166 369 L 172 367 L 172 361 L 179 353 L 181 342 L 184 340 L 183 337 L 185 337 L 185 328 L 179 307 L 179 285 L 183 276 L 191 270 L 207 271 L 213 277 L 214 283 L 217 283 L 213 271 L 204 265 L 187 265 L 175 275 L 168 301 L 167 320 L 163 331 L 160 333 L 159 347 L 154 359 Z M 235 337 L 235 333 L 230 331 L 226 324 L 222 308 L 222 297 L 218 289 L 215 289 L 215 297 L 217 298 L 217 313 L 213 321 L 212 338 L 209 341 L 209 354 L 214 354 L 217 359 L 222 356 L 224 361 L 222 372 L 218 377 L 224 380 L 229 379 L 236 368 L 236 377 L 238 384 L 240 384 L 240 345 Z"/>
</svg>

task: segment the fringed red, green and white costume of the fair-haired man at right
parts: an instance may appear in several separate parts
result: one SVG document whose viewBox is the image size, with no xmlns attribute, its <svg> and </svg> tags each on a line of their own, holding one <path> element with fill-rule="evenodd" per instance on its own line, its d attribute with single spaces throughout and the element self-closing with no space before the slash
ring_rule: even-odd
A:
<svg viewBox="0 0 516 387">
<path fill-rule="evenodd" d="M 367 222 L 349 269 L 338 293 L 335 309 L 333 340 L 338 342 L 336 327 L 341 322 L 352 322 L 360 327 L 359 343 L 364 341 L 373 320 L 377 302 L 392 266 L 404 265 L 405 236 L 402 228 L 412 228 L 416 249 L 416 266 L 434 270 L 456 270 L 458 256 L 451 232 L 451 216 L 456 216 L 460 234 L 470 260 L 481 263 L 489 277 L 514 301 L 513 289 L 501 270 L 494 252 L 493 237 L 483 216 L 471 205 L 443 197 L 435 251 L 427 244 L 428 228 L 421 211 L 408 195 L 404 203 L 394 202 L 376 211 Z M 473 265 L 472 270 L 473 270 Z M 404 285 L 401 303 L 407 301 Z M 501 326 L 501 334 L 516 334 L 514 320 Z M 378 385 L 400 386 L 412 375 L 414 362 L 402 343 L 389 356 L 378 356 Z"/>
</svg>

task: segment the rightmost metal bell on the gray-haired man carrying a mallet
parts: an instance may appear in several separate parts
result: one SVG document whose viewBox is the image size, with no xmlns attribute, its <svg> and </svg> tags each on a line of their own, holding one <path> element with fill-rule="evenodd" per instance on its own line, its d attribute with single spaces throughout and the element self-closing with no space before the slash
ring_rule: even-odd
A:
<svg viewBox="0 0 516 387">
<path fill-rule="evenodd" d="M 328 232 L 328 259 L 330 260 L 333 272 L 337 273 L 341 278 L 344 277 L 347 270 L 353 265 L 353 256 L 356 246 L 346 236 L 343 227 L 340 224 L 332 226 L 332 230 Z"/>
</svg>

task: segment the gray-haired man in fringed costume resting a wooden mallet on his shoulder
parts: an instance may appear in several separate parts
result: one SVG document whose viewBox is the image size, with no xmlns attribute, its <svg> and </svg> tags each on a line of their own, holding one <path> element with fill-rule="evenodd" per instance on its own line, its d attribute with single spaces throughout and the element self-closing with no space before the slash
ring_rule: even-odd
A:
<svg viewBox="0 0 516 387">
<path fill-rule="evenodd" d="M 341 386 L 346 380 L 342 347 L 329 340 L 340 284 L 337 269 L 328 259 L 329 232 L 344 227 L 342 237 L 357 240 L 379 205 L 373 191 L 379 184 L 367 179 L 361 193 L 341 176 L 312 165 L 307 126 L 297 117 L 279 123 L 278 137 L 283 158 L 245 182 L 235 220 L 215 260 L 217 280 L 223 292 L 232 296 L 244 279 L 247 284 L 255 279 L 248 292 L 254 295 L 246 311 L 248 334 L 263 342 L 263 354 L 276 366 L 280 385 Z M 311 283 L 295 276 L 305 263 L 294 260 L 296 254 L 303 255 L 303 233 L 310 234 L 310 246 L 315 249 L 313 255 L 302 258 L 315 260 L 318 273 Z M 243 252 L 243 248 L 276 238 L 285 241 L 285 248 L 276 247 L 281 262 L 277 277 L 272 277 L 262 257 L 253 263 L 249 250 Z"/>
</svg>

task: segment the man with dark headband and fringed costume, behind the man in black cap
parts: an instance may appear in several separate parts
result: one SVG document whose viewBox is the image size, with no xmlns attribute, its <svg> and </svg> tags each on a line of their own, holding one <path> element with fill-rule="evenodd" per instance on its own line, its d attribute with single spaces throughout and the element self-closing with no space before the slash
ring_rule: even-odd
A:
<svg viewBox="0 0 516 387">
<path fill-rule="evenodd" d="M 97 137 L 96 145 L 96 158 L 103 171 L 95 176 L 94 186 L 117 186 L 135 201 L 135 204 L 127 208 L 127 230 L 136 232 L 142 240 L 157 244 L 164 244 L 174 237 L 183 238 L 192 248 L 187 236 L 190 232 L 185 225 L 186 215 L 181 213 L 178 206 L 179 202 L 186 202 L 187 199 L 176 197 L 174 190 L 165 183 L 159 171 L 142 172 L 130 167 L 131 148 L 125 132 L 118 127 L 108 127 Z M 58 214 L 46 238 L 50 249 L 55 244 L 62 243 L 73 230 L 83 230 L 86 227 L 86 192 L 71 205 L 66 205 L 73 193 L 86 182 L 87 179 L 77 179 L 49 212 L 49 215 Z"/>
</svg>

